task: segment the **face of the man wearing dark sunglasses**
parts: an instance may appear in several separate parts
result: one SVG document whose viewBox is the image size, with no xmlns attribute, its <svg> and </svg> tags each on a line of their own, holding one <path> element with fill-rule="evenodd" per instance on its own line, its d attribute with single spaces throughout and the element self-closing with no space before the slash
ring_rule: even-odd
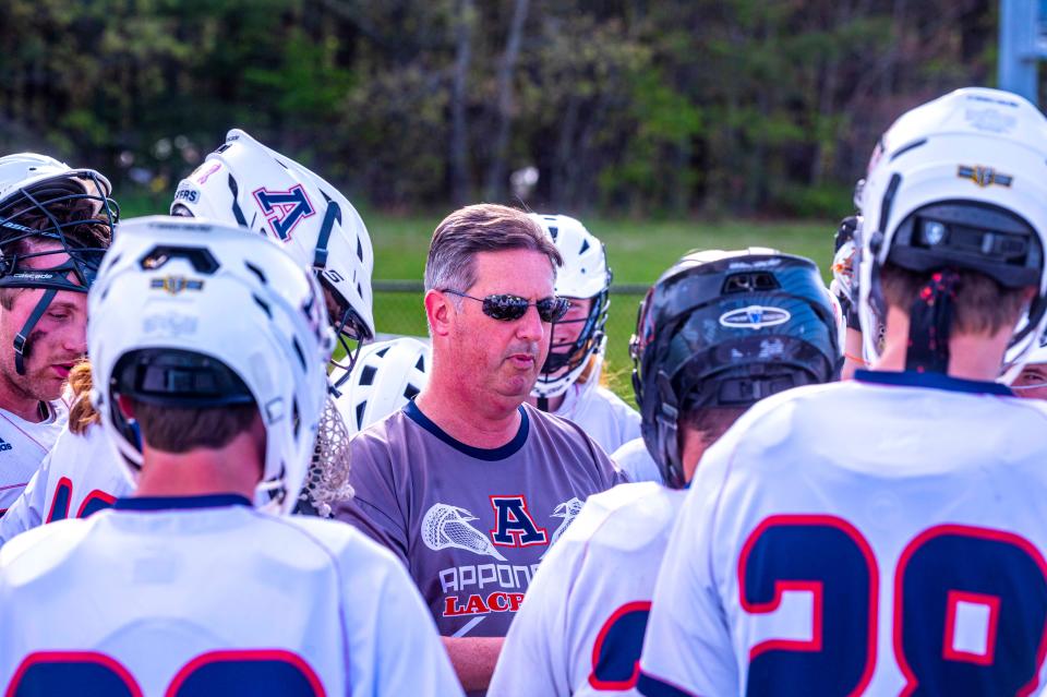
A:
<svg viewBox="0 0 1047 697">
<path fill-rule="evenodd" d="M 461 298 L 454 311 L 450 346 L 462 380 L 477 390 L 515 400 L 517 406 L 534 386 L 549 351 L 550 323 L 538 316 L 534 301 L 553 296 L 555 276 L 549 257 L 531 250 L 481 252 L 473 259 L 477 283 L 466 292 L 473 298 L 513 295 L 532 303 L 519 320 L 495 320 L 481 302 Z"/>
</svg>

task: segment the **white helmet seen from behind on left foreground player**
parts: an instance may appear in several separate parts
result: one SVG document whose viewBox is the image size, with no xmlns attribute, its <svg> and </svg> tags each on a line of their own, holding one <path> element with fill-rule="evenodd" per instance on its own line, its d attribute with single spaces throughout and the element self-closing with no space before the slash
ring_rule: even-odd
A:
<svg viewBox="0 0 1047 697">
<path fill-rule="evenodd" d="M 92 400 L 135 477 L 137 436 L 117 398 L 257 405 L 257 501 L 293 508 L 327 394 L 334 337 L 320 285 L 276 244 L 231 225 L 151 216 L 120 225 L 88 295 Z"/>
</svg>

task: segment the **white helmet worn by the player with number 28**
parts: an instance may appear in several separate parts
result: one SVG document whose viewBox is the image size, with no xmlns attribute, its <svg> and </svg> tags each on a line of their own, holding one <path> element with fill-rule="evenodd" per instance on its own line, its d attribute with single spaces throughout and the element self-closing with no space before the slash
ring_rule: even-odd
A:
<svg viewBox="0 0 1047 697">
<path fill-rule="evenodd" d="M 858 310 L 879 356 L 879 269 L 970 268 L 1035 286 L 1007 353 L 1016 364 L 1047 321 L 1047 119 L 1018 95 L 958 89 L 906 112 L 882 135 L 859 189 Z"/>
</svg>

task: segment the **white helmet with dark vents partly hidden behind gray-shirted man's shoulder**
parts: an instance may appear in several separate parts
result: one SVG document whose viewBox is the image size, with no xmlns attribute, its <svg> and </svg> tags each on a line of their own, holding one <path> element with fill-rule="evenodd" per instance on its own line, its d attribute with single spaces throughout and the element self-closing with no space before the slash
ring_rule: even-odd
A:
<svg viewBox="0 0 1047 697">
<path fill-rule="evenodd" d="M 429 344 L 410 336 L 369 344 L 352 371 L 336 369 L 332 384 L 350 435 L 402 408 L 429 380 Z"/>
</svg>

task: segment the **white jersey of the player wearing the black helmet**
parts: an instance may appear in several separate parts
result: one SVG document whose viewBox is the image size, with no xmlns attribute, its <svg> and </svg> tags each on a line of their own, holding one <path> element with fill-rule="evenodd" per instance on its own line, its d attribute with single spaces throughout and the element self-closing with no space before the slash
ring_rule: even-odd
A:
<svg viewBox="0 0 1047 697">
<path fill-rule="evenodd" d="M 589 497 L 538 567 L 488 697 L 639 694 L 654 578 L 684 495 L 643 482 Z"/>
</svg>

